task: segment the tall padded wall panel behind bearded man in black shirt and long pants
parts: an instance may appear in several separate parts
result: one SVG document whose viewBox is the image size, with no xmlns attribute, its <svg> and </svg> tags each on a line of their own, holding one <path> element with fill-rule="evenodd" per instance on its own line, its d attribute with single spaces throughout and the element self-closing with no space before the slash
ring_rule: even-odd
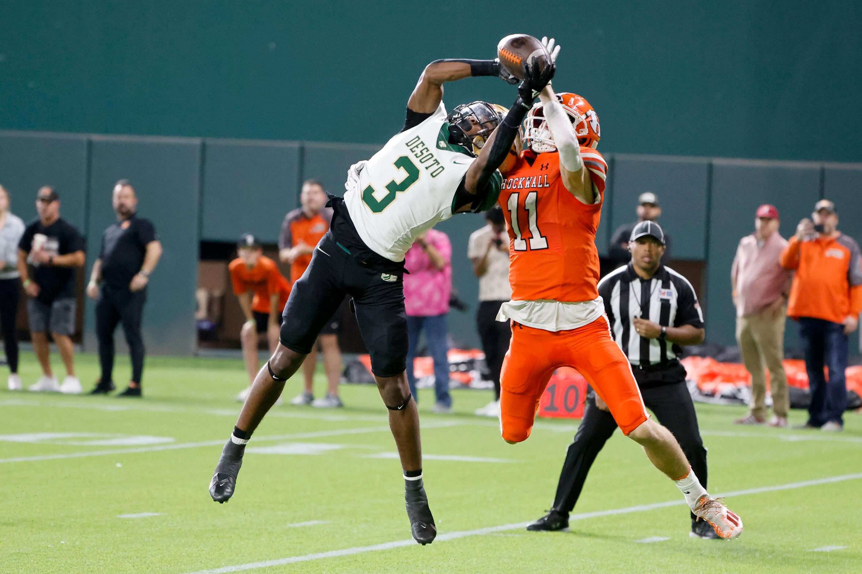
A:
<svg viewBox="0 0 862 574">
<path fill-rule="evenodd" d="M 111 192 L 118 179 L 134 184 L 138 214 L 153 221 L 165 249 L 147 287 L 144 343 L 148 353 L 191 354 L 197 348 L 198 202 L 201 140 L 93 136 L 87 251 L 99 253 L 105 228 L 116 222 Z M 94 303 L 87 300 L 84 347 L 95 351 Z M 122 329 L 116 340 L 122 341 Z M 125 373 L 116 373 L 122 381 Z"/>
</svg>

